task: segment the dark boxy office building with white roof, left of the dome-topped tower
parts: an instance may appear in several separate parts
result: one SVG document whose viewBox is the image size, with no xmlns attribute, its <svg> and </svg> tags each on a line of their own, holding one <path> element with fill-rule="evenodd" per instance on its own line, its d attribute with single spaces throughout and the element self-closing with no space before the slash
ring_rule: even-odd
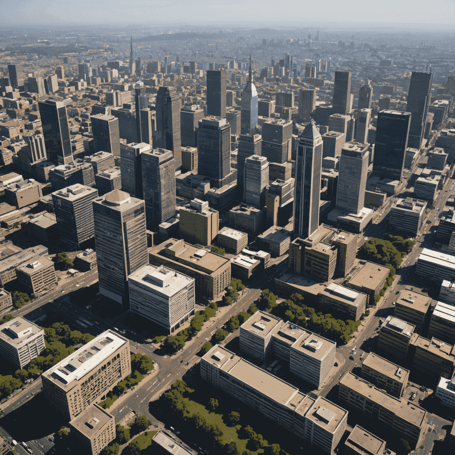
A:
<svg viewBox="0 0 455 455">
<path fill-rule="evenodd" d="M 78 249 L 95 235 L 93 201 L 98 190 L 80 183 L 52 193 L 60 240 Z"/>
</svg>

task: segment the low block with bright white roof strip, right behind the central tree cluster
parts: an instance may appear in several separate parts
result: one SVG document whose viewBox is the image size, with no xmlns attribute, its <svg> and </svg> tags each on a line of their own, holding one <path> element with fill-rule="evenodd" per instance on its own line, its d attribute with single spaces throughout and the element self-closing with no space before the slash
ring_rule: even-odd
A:
<svg viewBox="0 0 455 455">
<path fill-rule="evenodd" d="M 318 294 L 319 306 L 343 313 L 346 319 L 358 321 L 365 312 L 367 294 L 346 288 L 341 284 L 330 283 Z"/>
</svg>

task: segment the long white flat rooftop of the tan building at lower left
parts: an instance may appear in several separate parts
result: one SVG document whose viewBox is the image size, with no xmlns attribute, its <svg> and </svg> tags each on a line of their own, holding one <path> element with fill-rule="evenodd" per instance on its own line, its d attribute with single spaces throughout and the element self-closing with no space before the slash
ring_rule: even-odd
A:
<svg viewBox="0 0 455 455">
<path fill-rule="evenodd" d="M 73 381 L 81 379 L 126 343 L 128 339 L 106 330 L 43 374 L 61 389 L 69 390 Z"/>
</svg>

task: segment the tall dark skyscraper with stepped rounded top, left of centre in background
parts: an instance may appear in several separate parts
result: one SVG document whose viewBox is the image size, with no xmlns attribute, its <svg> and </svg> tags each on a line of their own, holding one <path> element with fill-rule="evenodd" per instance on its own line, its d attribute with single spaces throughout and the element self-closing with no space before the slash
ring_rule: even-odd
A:
<svg viewBox="0 0 455 455">
<path fill-rule="evenodd" d="M 226 93 L 224 98 L 226 99 Z M 158 89 L 155 108 L 157 111 L 156 148 L 165 148 L 174 152 L 176 171 L 182 167 L 180 108 L 181 101 L 175 87 Z"/>
</svg>

